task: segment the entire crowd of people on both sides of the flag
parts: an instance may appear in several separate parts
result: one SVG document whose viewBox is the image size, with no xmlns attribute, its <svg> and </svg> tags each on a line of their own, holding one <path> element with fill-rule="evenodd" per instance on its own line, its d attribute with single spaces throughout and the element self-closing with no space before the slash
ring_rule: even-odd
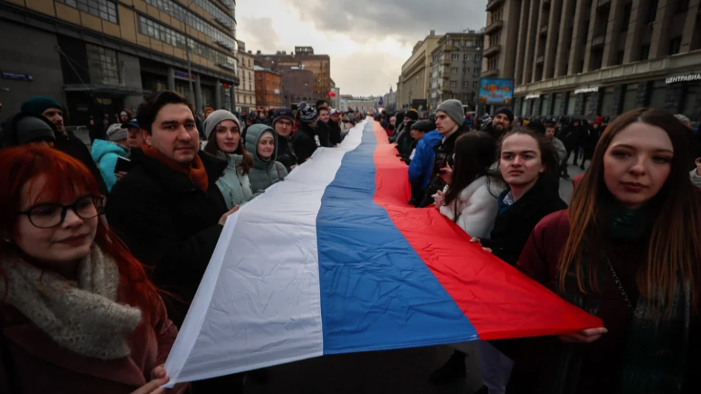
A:
<svg viewBox="0 0 701 394">
<path fill-rule="evenodd" d="M 165 392 L 163 362 L 226 218 L 365 119 L 320 100 L 199 121 L 171 91 L 121 115 L 88 149 L 59 102 L 33 97 L 0 132 L 2 393 Z M 480 393 L 701 392 L 701 147 L 687 118 L 636 109 L 589 125 L 503 107 L 475 119 L 447 100 L 376 119 L 408 164 L 411 205 L 603 320 L 480 342 Z M 590 164 L 568 208 L 572 153 Z M 430 381 L 463 379 L 465 357 Z M 240 393 L 243 377 L 171 392 Z"/>
</svg>

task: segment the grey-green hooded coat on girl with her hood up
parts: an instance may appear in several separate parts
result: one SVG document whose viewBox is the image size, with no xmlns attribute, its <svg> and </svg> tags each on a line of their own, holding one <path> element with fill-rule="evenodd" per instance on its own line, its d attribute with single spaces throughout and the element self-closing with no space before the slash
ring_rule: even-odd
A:
<svg viewBox="0 0 701 394">
<path fill-rule="evenodd" d="M 261 135 L 269 130 L 273 133 L 273 140 L 275 142 L 275 150 L 273 150 L 273 156 L 267 161 L 258 157 L 258 140 Z M 278 133 L 273 130 L 270 126 L 263 124 L 251 125 L 246 130 L 246 149 L 253 155 L 253 168 L 251 173 L 248 175 L 248 179 L 251 182 L 251 189 L 254 193 L 259 191 L 264 191 L 268 189 L 275 182 L 285 179 L 287 176 L 287 169 L 283 163 L 275 161 L 278 158 Z"/>
</svg>

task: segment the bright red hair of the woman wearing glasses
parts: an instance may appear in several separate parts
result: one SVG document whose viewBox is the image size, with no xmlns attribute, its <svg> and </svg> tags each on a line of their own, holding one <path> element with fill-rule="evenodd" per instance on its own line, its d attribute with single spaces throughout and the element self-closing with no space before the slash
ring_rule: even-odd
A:
<svg viewBox="0 0 701 394">
<path fill-rule="evenodd" d="M 17 217 L 22 209 L 22 189 L 37 179 L 46 180 L 37 201 L 72 201 L 81 193 L 100 195 L 95 177 L 83 163 L 56 149 L 36 144 L 11 147 L 0 151 L 0 236 L 15 238 Z M 33 205 L 32 201 L 29 205 Z M 121 289 L 127 303 L 141 309 L 144 318 L 155 322 L 164 318 L 165 308 L 154 283 L 144 266 L 129 252 L 126 245 L 102 220 L 97 221 L 95 243 L 117 264 Z M 0 257 L 13 254 L 14 247 L 0 243 Z M 0 267 L 7 289 L 7 277 Z M 7 290 L 6 290 L 7 291 Z M 3 300 L 7 298 L 4 294 Z"/>
</svg>

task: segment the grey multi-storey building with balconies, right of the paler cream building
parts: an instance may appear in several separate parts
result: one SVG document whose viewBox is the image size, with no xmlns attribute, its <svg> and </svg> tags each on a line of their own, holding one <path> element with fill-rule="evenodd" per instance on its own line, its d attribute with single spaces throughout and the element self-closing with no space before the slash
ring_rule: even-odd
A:
<svg viewBox="0 0 701 394">
<path fill-rule="evenodd" d="M 467 30 L 448 33 L 431 53 L 429 106 L 456 99 L 475 109 L 479 98 L 484 33 Z"/>
</svg>

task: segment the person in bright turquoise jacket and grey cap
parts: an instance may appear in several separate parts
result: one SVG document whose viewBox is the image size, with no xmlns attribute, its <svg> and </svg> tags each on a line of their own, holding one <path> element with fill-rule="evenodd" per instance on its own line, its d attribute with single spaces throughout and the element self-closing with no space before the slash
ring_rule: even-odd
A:
<svg viewBox="0 0 701 394">
<path fill-rule="evenodd" d="M 121 123 L 115 123 L 107 129 L 109 141 L 93 141 L 93 149 L 90 151 L 90 154 L 93 155 L 97 168 L 100 168 L 100 175 L 102 175 L 102 179 L 104 179 L 109 191 L 112 191 L 112 186 L 125 175 L 115 174 L 114 168 L 120 157 L 127 158 L 129 156 L 128 137 L 129 130 L 123 127 Z"/>
</svg>

